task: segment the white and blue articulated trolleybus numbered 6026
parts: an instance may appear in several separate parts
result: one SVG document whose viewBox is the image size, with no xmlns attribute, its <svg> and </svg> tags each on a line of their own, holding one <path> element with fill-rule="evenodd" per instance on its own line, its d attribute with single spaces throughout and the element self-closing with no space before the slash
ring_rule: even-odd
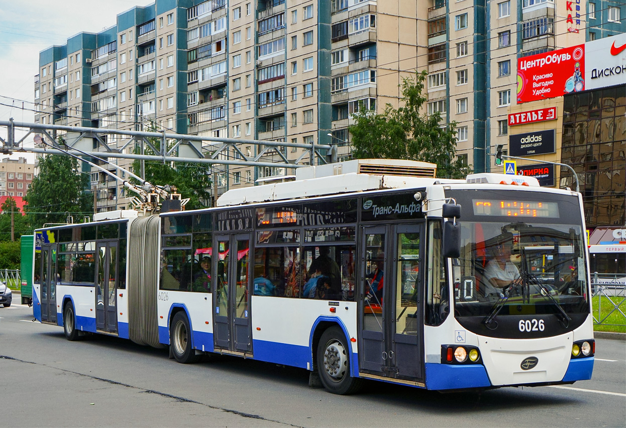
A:
<svg viewBox="0 0 626 428">
<path fill-rule="evenodd" d="M 579 193 L 353 160 L 217 205 L 36 230 L 35 317 L 181 363 L 302 367 L 336 394 L 363 378 L 471 390 L 592 375 Z"/>
</svg>

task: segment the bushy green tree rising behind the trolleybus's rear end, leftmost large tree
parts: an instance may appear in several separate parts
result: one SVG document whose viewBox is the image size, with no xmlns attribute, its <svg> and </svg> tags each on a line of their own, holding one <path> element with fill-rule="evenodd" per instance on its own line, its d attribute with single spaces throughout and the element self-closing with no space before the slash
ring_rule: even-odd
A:
<svg viewBox="0 0 626 428">
<path fill-rule="evenodd" d="M 85 192 L 89 176 L 76 174 L 78 160 L 66 155 L 39 158 L 39 174 L 33 178 L 24 201 L 28 205 L 31 226 L 44 223 L 65 223 L 67 215 L 74 218 L 93 213 L 93 195 Z"/>
</svg>

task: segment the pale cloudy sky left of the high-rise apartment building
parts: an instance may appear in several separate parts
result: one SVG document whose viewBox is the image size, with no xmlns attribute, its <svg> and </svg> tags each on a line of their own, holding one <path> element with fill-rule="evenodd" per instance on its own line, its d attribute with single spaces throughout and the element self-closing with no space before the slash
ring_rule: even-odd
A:
<svg viewBox="0 0 626 428">
<path fill-rule="evenodd" d="M 0 0 L 0 121 L 34 123 L 34 76 L 39 52 L 61 45 L 75 34 L 98 33 L 116 24 L 116 16 L 150 0 Z M 8 105 L 4 105 L 8 104 Z M 25 131 L 16 130 L 16 140 Z M 0 137 L 6 139 L 6 127 Z M 28 136 L 25 146 L 33 147 Z M 16 153 L 10 157 L 34 155 Z"/>
</svg>

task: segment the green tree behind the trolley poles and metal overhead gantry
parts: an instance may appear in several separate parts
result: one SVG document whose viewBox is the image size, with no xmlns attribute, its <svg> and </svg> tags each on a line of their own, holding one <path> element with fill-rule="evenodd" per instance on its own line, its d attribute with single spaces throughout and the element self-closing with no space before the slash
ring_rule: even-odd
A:
<svg viewBox="0 0 626 428">
<path fill-rule="evenodd" d="M 155 131 L 151 129 L 150 131 Z M 161 141 L 157 138 L 148 138 L 150 144 L 159 151 Z M 168 150 L 173 146 L 168 145 Z M 135 153 L 140 153 L 138 149 Z M 149 147 L 144 150 L 145 155 L 159 155 Z M 182 198 L 189 198 L 186 210 L 197 210 L 198 208 L 206 208 L 205 202 L 209 200 L 210 193 L 208 189 L 211 187 L 210 168 L 197 163 L 173 163 L 159 161 L 145 161 L 144 163 L 145 180 L 153 185 L 158 186 L 175 186 Z M 135 160 L 133 162 L 133 173 L 141 176 L 141 162 Z"/>
</svg>

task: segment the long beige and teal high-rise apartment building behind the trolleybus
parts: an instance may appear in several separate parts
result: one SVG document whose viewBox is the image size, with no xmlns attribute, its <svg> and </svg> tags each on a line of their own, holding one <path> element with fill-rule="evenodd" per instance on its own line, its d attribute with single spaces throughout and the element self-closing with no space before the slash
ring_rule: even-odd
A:
<svg viewBox="0 0 626 428">
<path fill-rule="evenodd" d="M 351 153 L 351 113 L 397 107 L 399 81 L 427 69 L 425 113 L 456 122 L 457 155 L 490 171 L 495 146 L 508 146 L 518 58 L 623 32 L 623 8 L 610 0 L 156 0 L 42 51 L 36 120 L 128 130 L 151 121 L 157 131 L 337 144 L 341 158 Z M 135 150 L 123 138 L 106 143 Z M 200 149 L 228 159 L 310 156 L 245 141 L 219 155 L 214 145 Z M 291 173 L 209 171 L 218 195 Z M 94 171 L 92 186 L 99 210 L 126 205 L 103 173 Z"/>
</svg>

